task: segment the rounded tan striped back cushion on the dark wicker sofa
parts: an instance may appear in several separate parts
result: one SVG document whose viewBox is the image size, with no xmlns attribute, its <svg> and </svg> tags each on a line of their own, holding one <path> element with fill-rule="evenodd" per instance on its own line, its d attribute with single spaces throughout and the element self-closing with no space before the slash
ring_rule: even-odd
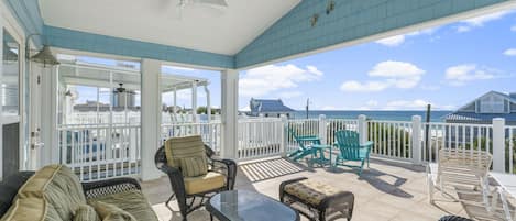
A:
<svg viewBox="0 0 516 221">
<path fill-rule="evenodd" d="M 37 170 L 19 190 L 17 198 L 45 201 L 45 219 L 68 221 L 86 203 L 78 177 L 66 166 L 50 165 Z"/>
</svg>

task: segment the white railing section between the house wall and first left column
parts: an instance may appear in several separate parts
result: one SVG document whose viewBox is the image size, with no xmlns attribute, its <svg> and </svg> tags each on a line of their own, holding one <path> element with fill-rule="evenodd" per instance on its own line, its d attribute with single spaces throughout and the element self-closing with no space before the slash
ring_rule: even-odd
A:
<svg viewBox="0 0 516 221">
<path fill-rule="evenodd" d="M 57 132 L 59 162 L 80 180 L 140 174 L 140 125 L 65 125 Z"/>
</svg>

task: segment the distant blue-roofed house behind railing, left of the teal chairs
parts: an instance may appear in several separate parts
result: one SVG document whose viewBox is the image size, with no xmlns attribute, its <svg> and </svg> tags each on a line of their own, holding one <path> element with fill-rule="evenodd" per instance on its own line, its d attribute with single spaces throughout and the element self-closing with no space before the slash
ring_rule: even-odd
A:
<svg viewBox="0 0 516 221">
<path fill-rule="evenodd" d="M 292 112 L 295 110 L 283 104 L 281 99 L 254 99 L 251 98 L 249 101 L 250 115 L 263 115 L 263 117 L 279 117 L 285 114 L 290 117 Z"/>
</svg>

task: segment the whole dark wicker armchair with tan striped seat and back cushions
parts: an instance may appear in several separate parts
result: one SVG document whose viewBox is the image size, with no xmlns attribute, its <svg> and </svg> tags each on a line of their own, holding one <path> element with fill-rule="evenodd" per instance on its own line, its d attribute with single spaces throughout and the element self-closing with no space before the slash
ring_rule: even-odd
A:
<svg viewBox="0 0 516 221">
<path fill-rule="evenodd" d="M 172 186 L 173 194 L 165 205 L 168 207 L 175 198 L 184 221 L 213 194 L 233 189 L 235 162 L 213 155 L 199 135 L 172 137 L 155 154 L 156 167 L 168 176 Z M 200 202 L 194 203 L 199 198 Z"/>
</svg>

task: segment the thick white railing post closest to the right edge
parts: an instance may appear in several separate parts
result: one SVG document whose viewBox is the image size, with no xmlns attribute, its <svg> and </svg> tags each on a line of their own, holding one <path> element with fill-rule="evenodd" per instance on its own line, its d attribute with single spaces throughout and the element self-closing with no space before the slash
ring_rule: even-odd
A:
<svg viewBox="0 0 516 221">
<path fill-rule="evenodd" d="M 493 119 L 493 170 L 505 173 L 505 119 Z"/>
</svg>

